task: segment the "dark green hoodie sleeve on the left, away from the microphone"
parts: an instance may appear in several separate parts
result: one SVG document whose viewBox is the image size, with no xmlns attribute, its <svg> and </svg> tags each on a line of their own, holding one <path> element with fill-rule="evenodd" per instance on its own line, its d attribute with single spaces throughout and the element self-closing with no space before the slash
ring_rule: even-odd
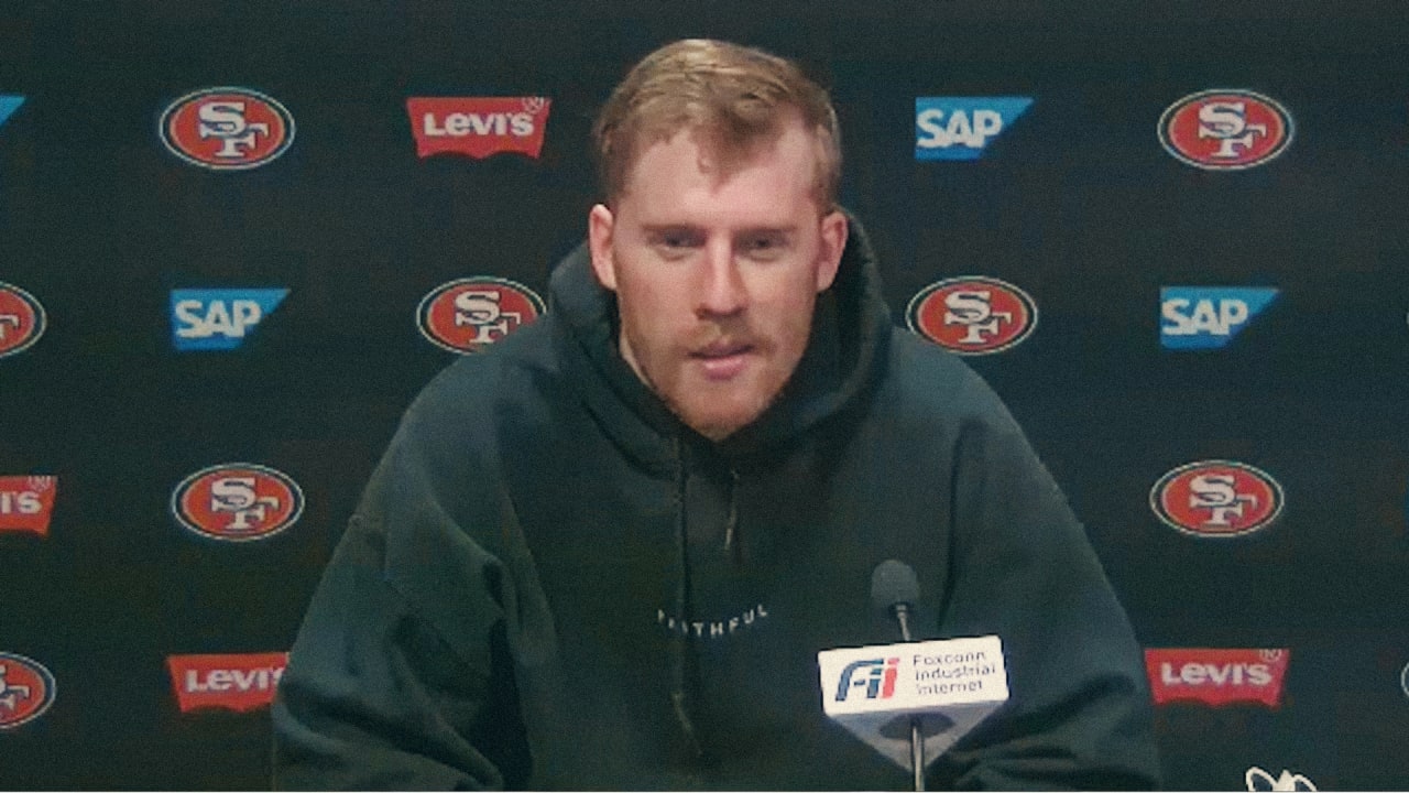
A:
<svg viewBox="0 0 1409 793">
<path fill-rule="evenodd" d="M 276 789 L 524 785 L 504 576 L 416 435 L 393 440 L 299 629 L 272 710 Z"/>
</svg>

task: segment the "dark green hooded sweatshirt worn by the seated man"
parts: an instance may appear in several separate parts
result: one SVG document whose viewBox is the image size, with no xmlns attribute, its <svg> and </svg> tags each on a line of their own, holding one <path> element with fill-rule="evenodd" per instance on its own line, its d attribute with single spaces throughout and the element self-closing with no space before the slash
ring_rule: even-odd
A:
<svg viewBox="0 0 1409 793">
<path fill-rule="evenodd" d="M 585 247 L 550 310 L 406 412 L 299 632 L 278 787 L 906 789 L 823 715 L 821 649 L 998 634 L 1010 700 L 930 786 L 1148 787 L 1140 649 L 996 395 L 893 332 L 852 222 L 783 394 L 721 443 L 616 347 Z"/>
</svg>

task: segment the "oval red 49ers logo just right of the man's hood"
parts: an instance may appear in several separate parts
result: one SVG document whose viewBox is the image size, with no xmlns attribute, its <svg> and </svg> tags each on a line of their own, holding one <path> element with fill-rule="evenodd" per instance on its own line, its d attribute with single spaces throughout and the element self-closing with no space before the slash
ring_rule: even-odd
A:
<svg viewBox="0 0 1409 793">
<path fill-rule="evenodd" d="M 1037 327 L 1037 303 L 1027 292 L 982 275 L 930 284 L 905 313 L 910 330 L 961 356 L 1007 350 Z"/>
</svg>

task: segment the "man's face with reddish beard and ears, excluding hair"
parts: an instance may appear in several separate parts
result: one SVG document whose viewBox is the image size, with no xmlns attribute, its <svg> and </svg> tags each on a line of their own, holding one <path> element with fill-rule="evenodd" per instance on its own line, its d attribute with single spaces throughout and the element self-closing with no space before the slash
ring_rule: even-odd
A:
<svg viewBox="0 0 1409 793">
<path fill-rule="evenodd" d="M 814 151 L 793 121 L 726 171 L 686 128 L 637 155 L 614 210 L 592 207 L 592 267 L 617 295 L 621 356 L 713 440 L 778 396 L 837 274 L 847 222 L 817 207 Z"/>
</svg>

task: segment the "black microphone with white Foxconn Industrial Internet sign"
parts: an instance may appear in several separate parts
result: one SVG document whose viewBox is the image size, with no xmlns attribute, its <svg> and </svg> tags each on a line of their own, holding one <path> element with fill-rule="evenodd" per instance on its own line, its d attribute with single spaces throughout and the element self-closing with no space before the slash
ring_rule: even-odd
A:
<svg viewBox="0 0 1409 793">
<path fill-rule="evenodd" d="M 1007 701 L 1003 643 L 996 635 L 910 641 L 920 583 L 888 559 L 871 574 L 871 603 L 900 626 L 902 642 L 817 653 L 828 718 L 914 776 Z"/>
</svg>

